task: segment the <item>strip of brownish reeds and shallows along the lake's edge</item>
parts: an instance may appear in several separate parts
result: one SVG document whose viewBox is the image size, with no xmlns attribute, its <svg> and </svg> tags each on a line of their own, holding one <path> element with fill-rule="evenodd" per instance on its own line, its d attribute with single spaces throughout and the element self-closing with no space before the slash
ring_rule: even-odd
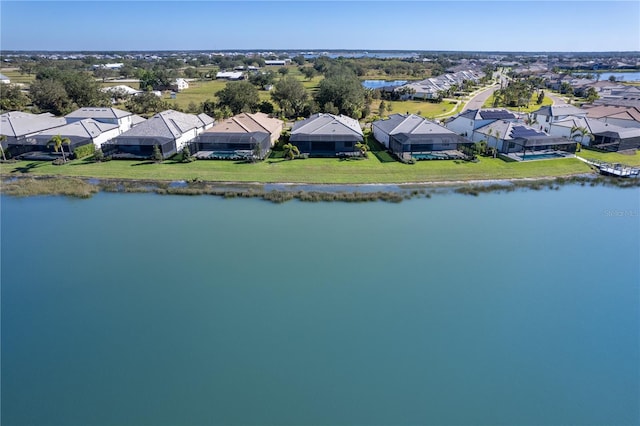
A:
<svg viewBox="0 0 640 426">
<path fill-rule="evenodd" d="M 540 177 L 513 180 L 428 182 L 380 185 L 377 190 L 362 190 L 365 185 L 318 185 L 283 184 L 280 188 L 268 188 L 261 183 L 222 183 L 190 181 L 174 185 L 172 181 L 126 180 L 126 179 L 82 179 L 62 176 L 19 176 L 4 178 L 0 193 L 14 197 L 40 195 L 62 195 L 73 198 L 91 198 L 98 192 L 153 193 L 158 195 L 213 195 L 224 198 L 260 198 L 274 203 L 290 200 L 307 202 L 370 202 L 398 203 L 412 198 L 431 198 L 432 195 L 458 193 L 478 196 L 488 192 L 512 192 L 515 190 L 558 190 L 562 185 L 613 186 L 620 188 L 640 187 L 637 179 L 580 174 L 568 177 Z M 375 184 L 379 185 L 379 184 Z"/>
</svg>

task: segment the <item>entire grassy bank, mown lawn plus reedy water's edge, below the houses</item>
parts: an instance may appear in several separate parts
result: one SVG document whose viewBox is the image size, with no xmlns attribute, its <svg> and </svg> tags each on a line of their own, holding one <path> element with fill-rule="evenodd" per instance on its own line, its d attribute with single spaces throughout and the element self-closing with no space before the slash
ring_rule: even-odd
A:
<svg viewBox="0 0 640 426">
<path fill-rule="evenodd" d="M 270 201 L 401 201 L 407 196 L 439 189 L 477 195 L 487 188 L 539 189 L 574 182 L 609 182 L 639 186 L 640 180 L 601 180 L 594 169 L 577 158 L 506 162 L 481 157 L 477 162 L 419 161 L 402 164 L 372 152 L 368 159 L 311 158 L 259 163 L 204 161 L 162 163 L 113 160 L 94 163 L 73 160 L 62 166 L 48 161 L 0 163 L 0 193 L 13 196 L 65 195 L 89 198 L 99 191 L 155 192 L 179 195 L 261 197 Z M 608 162 L 640 164 L 640 155 L 583 150 L 582 157 Z M 267 190 L 265 185 L 279 187 Z M 315 187 L 314 187 L 315 186 Z M 317 186 L 324 186 L 318 193 Z M 368 186 L 363 190 L 360 186 Z M 327 188 L 328 187 L 328 188 Z M 329 195 L 328 195 L 329 194 Z M 339 194 L 339 195 L 336 195 Z M 346 194 L 346 195 L 345 195 Z"/>
</svg>

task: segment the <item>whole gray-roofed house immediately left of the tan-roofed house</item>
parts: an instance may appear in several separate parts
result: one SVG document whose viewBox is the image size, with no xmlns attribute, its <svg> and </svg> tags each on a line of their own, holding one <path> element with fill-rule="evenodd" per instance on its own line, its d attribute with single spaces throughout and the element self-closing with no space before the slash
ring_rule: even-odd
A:
<svg viewBox="0 0 640 426">
<path fill-rule="evenodd" d="M 163 158 L 171 157 L 209 129 L 214 120 L 206 114 L 163 111 L 103 144 L 113 158 L 149 158 L 158 146 Z"/>
</svg>

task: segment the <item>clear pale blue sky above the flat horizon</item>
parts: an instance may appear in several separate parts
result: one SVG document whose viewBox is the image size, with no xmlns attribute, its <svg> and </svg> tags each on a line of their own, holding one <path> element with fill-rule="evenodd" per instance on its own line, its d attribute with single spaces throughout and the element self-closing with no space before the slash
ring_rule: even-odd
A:
<svg viewBox="0 0 640 426">
<path fill-rule="evenodd" d="M 631 1 L 0 1 L 2 50 L 640 51 Z"/>
</svg>

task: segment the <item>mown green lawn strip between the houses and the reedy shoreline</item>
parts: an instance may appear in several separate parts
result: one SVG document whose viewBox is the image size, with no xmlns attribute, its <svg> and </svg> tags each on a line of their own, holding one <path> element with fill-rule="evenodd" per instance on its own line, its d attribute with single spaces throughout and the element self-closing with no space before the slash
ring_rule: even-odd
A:
<svg viewBox="0 0 640 426">
<path fill-rule="evenodd" d="M 121 179 L 190 180 L 216 182 L 299 182 L 299 183 L 402 183 L 456 180 L 536 178 L 587 173 L 589 166 L 575 159 L 507 163 L 482 158 L 478 163 L 419 161 L 414 165 L 381 162 L 370 154 L 366 160 L 313 158 L 307 160 L 266 160 L 256 164 L 232 161 L 154 164 L 145 161 L 114 160 L 88 163 L 74 160 L 63 166 L 50 162 L 0 164 L 7 175 L 59 175 Z"/>
</svg>

